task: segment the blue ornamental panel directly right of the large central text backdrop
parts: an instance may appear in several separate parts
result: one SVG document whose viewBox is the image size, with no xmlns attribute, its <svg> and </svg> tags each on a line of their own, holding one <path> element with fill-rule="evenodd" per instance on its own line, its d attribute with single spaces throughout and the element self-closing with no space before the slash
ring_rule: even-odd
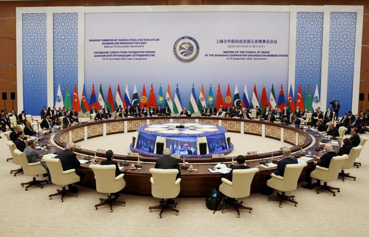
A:
<svg viewBox="0 0 369 237">
<path fill-rule="evenodd" d="M 299 90 L 299 84 L 301 84 L 303 98 L 306 96 L 308 85 L 310 85 L 312 97 L 316 84 L 320 93 L 323 15 L 323 12 L 297 13 L 295 97 Z"/>
</svg>

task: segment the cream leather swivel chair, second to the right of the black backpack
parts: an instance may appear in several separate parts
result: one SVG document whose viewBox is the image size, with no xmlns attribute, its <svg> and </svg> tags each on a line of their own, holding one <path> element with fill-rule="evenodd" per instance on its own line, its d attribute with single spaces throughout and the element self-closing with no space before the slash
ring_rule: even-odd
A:
<svg viewBox="0 0 369 237">
<path fill-rule="evenodd" d="M 282 191 L 282 194 L 277 192 L 277 196 L 268 197 L 268 201 L 279 200 L 279 207 L 282 207 L 283 201 L 292 202 L 297 207 L 295 196 L 286 196 L 286 192 L 297 188 L 297 182 L 299 181 L 300 174 L 305 166 L 307 166 L 306 162 L 302 162 L 300 164 L 288 164 L 284 168 L 283 177 L 272 173 L 272 178 L 266 181 L 266 185 L 270 188 Z"/>
</svg>

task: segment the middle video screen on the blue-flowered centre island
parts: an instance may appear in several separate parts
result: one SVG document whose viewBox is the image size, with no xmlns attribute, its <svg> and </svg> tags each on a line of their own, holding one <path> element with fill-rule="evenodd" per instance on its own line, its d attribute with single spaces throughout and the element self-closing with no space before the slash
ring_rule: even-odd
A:
<svg viewBox="0 0 369 237">
<path fill-rule="evenodd" d="M 166 148 L 174 155 L 197 155 L 196 137 L 167 137 Z"/>
</svg>

